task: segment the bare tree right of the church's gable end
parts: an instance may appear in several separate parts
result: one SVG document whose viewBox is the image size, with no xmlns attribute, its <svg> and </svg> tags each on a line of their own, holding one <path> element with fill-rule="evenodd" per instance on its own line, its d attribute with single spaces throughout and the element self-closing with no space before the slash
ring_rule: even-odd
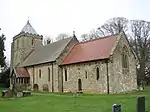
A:
<svg viewBox="0 0 150 112">
<path fill-rule="evenodd" d="M 130 43 L 138 57 L 138 81 L 145 80 L 150 73 L 150 22 L 131 20 Z"/>
</svg>

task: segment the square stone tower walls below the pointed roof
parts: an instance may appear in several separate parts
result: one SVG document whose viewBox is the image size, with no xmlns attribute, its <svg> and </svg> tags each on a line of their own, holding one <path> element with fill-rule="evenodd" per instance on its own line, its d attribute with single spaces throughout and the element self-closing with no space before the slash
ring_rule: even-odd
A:
<svg viewBox="0 0 150 112">
<path fill-rule="evenodd" d="M 33 41 L 33 45 L 32 45 Z M 41 37 L 30 36 L 27 34 L 14 37 L 11 46 L 11 66 L 21 65 L 22 62 L 30 55 L 33 49 L 42 46 Z"/>
</svg>

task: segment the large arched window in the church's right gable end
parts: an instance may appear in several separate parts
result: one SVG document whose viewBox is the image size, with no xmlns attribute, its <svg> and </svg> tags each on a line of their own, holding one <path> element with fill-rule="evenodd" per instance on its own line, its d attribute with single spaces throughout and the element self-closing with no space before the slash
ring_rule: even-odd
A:
<svg viewBox="0 0 150 112">
<path fill-rule="evenodd" d="M 123 73 L 126 73 L 129 69 L 128 49 L 126 46 L 124 46 L 122 50 L 122 69 Z"/>
</svg>

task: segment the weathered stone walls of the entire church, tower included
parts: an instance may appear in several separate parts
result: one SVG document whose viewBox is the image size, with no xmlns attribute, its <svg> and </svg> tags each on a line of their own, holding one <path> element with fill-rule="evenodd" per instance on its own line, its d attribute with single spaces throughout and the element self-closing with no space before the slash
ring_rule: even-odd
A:
<svg viewBox="0 0 150 112">
<path fill-rule="evenodd" d="M 34 44 L 32 45 L 33 40 Z M 47 85 L 46 90 L 49 92 L 80 91 L 105 94 L 137 89 L 137 61 L 124 35 L 120 34 L 110 53 L 109 60 L 61 65 L 64 57 L 77 42 L 76 38 L 72 39 L 55 62 L 43 62 L 43 64 L 26 67 L 30 75 L 32 90 L 35 89 L 35 85 L 37 91 L 45 91 L 43 85 Z M 34 49 L 38 46 L 41 47 L 41 43 L 41 38 L 37 38 L 37 36 L 20 35 L 15 37 L 12 43 L 11 66 L 20 66 Z M 124 46 L 127 48 L 128 68 L 122 68 Z M 96 77 L 97 69 L 99 69 L 98 79 Z M 39 70 L 41 71 L 40 76 Z M 65 70 L 67 70 L 67 81 L 65 81 Z M 49 74 L 50 78 L 48 78 Z"/>
</svg>

